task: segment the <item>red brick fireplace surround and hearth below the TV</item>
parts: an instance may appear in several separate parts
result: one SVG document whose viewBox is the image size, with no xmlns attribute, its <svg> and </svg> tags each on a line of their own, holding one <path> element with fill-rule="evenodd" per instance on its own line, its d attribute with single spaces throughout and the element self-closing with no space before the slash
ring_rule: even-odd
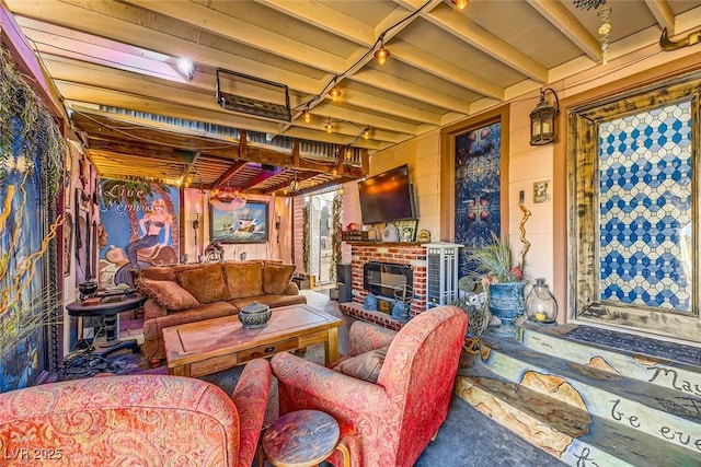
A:
<svg viewBox="0 0 701 467">
<path fill-rule="evenodd" d="M 407 265 L 412 268 L 412 288 L 414 299 L 411 303 L 410 314 L 415 316 L 426 310 L 426 248 L 417 243 L 379 243 L 379 242 L 353 242 L 352 246 L 352 276 L 353 276 L 353 302 L 341 303 L 341 311 L 365 322 L 375 323 L 390 329 L 400 329 L 402 324 L 393 319 L 389 314 L 368 311 L 363 307 L 363 302 L 368 295 L 364 288 L 363 270 L 366 262 L 384 262 Z"/>
</svg>

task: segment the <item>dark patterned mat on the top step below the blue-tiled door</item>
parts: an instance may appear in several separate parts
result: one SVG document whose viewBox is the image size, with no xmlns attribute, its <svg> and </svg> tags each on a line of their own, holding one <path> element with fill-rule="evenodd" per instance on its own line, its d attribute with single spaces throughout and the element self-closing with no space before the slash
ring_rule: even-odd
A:
<svg viewBox="0 0 701 467">
<path fill-rule="evenodd" d="M 701 366 L 701 348 L 699 347 L 667 342 L 590 326 L 577 326 L 565 334 L 565 337 L 577 341 L 597 343 L 613 349 Z"/>
</svg>

